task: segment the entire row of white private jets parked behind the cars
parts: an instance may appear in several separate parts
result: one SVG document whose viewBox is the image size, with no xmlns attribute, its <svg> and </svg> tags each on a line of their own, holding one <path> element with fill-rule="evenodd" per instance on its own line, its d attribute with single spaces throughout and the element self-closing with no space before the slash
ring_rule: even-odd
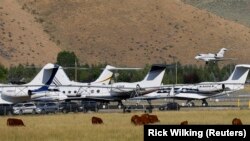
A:
<svg viewBox="0 0 250 141">
<path fill-rule="evenodd" d="M 117 68 L 119 69 L 119 68 Z M 0 103 L 18 103 L 30 100 L 95 100 L 102 103 L 122 100 L 142 99 L 151 100 L 173 98 L 187 100 L 202 100 L 207 106 L 207 98 L 225 95 L 244 88 L 250 65 L 239 64 L 231 76 L 222 82 L 202 82 L 199 84 L 162 85 L 165 65 L 152 65 L 150 71 L 139 82 L 117 82 L 110 84 L 115 70 L 113 66 L 106 66 L 99 78 L 92 83 L 71 81 L 61 66 L 47 64 L 28 84 L 0 86 Z"/>
</svg>

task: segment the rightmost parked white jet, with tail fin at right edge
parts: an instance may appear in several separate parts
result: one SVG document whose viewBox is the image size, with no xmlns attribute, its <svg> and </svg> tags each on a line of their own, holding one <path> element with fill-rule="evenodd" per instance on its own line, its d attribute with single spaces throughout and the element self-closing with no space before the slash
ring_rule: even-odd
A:
<svg viewBox="0 0 250 141">
<path fill-rule="evenodd" d="M 221 82 L 202 82 L 198 84 L 176 84 L 163 85 L 162 88 L 141 97 L 132 98 L 131 100 L 155 100 L 155 99 L 179 99 L 187 100 L 186 105 L 194 106 L 192 100 L 202 100 L 202 106 L 208 106 L 206 99 L 227 95 L 235 91 L 244 89 L 250 65 L 239 64 L 235 66 L 233 73 L 226 81 Z"/>
</svg>

